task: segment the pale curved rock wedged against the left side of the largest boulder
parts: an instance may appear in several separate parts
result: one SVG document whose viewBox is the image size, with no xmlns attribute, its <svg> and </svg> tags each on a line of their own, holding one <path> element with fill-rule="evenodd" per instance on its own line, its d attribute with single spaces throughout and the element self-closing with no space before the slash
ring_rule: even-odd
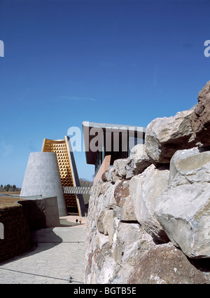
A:
<svg viewBox="0 0 210 298">
<path fill-rule="evenodd" d="M 167 189 L 169 170 L 159 170 L 150 165 L 140 175 L 130 180 L 130 194 L 137 220 L 155 240 L 169 241 L 153 212 L 155 200 Z"/>
</svg>

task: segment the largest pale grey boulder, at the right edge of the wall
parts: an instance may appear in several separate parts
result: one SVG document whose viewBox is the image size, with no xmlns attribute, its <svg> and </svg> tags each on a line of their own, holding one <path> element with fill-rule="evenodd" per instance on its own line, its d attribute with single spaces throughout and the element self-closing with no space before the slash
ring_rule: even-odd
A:
<svg viewBox="0 0 210 298">
<path fill-rule="evenodd" d="M 210 151 L 196 150 L 176 152 L 169 187 L 154 212 L 174 245 L 188 257 L 205 258 L 210 257 Z"/>
</svg>

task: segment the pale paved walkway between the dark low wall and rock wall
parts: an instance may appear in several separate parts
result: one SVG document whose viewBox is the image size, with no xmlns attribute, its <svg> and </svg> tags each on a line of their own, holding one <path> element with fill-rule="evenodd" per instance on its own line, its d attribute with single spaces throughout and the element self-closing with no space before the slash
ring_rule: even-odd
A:
<svg viewBox="0 0 210 298">
<path fill-rule="evenodd" d="M 82 284 L 86 217 L 60 217 L 61 226 L 32 233 L 33 248 L 0 264 L 0 284 Z"/>
</svg>

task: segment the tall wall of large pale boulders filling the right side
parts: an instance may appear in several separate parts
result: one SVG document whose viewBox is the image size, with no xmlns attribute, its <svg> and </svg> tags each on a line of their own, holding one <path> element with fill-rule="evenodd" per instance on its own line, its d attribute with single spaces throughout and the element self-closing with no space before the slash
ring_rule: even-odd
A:
<svg viewBox="0 0 210 298">
<path fill-rule="evenodd" d="M 209 107 L 210 81 L 92 187 L 85 283 L 210 283 Z"/>
</svg>

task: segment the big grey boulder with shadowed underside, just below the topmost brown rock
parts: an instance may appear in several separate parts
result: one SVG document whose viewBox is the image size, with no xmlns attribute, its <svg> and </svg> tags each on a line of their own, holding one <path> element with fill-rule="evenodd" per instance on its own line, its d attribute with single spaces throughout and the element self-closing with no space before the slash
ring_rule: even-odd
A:
<svg viewBox="0 0 210 298">
<path fill-rule="evenodd" d="M 192 110 L 175 116 L 155 118 L 146 128 L 146 154 L 158 163 L 169 163 L 176 150 L 195 147 L 190 126 Z"/>
</svg>

